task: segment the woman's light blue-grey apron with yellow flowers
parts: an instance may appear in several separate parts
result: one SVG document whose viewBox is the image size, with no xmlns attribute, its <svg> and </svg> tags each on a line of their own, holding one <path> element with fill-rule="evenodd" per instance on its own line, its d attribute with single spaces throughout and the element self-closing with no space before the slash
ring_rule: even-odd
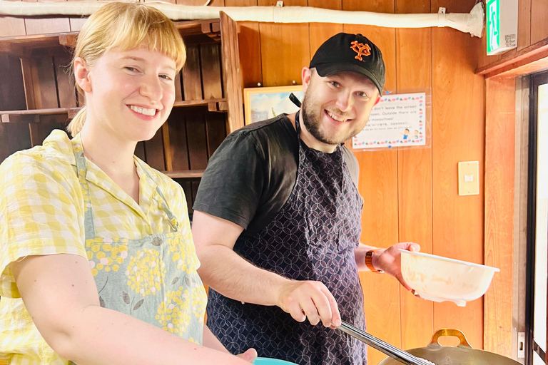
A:
<svg viewBox="0 0 548 365">
<path fill-rule="evenodd" d="M 201 344 L 207 297 L 196 272 L 199 262 L 193 242 L 184 238 L 188 225 L 178 224 L 156 187 L 153 198 L 168 216 L 171 232 L 139 240 L 97 237 L 86 159 L 80 139 L 73 138 L 72 144 L 83 192 L 86 254 L 101 307 L 129 314 Z M 143 171 L 152 178 L 146 169 Z"/>
</svg>

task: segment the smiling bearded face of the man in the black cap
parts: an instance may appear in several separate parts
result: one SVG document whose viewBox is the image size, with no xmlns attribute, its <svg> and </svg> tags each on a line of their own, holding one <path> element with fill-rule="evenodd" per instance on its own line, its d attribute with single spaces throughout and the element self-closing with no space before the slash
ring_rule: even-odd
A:
<svg viewBox="0 0 548 365">
<path fill-rule="evenodd" d="M 369 78 L 353 72 L 321 77 L 303 69 L 303 123 L 320 142 L 338 145 L 365 127 L 379 91 Z"/>
</svg>

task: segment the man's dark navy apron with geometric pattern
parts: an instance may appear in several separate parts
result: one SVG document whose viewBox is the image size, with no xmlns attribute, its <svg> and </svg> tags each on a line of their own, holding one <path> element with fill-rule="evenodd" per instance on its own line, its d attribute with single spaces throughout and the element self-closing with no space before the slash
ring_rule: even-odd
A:
<svg viewBox="0 0 548 365">
<path fill-rule="evenodd" d="M 257 235 L 237 242 L 234 251 L 284 277 L 323 282 L 337 299 L 342 320 L 365 329 L 354 257 L 361 232 L 360 195 L 340 146 L 334 153 L 322 153 L 298 140 L 297 180 L 288 201 Z M 341 331 L 321 322 L 299 323 L 279 307 L 242 304 L 213 289 L 208 327 L 233 354 L 254 347 L 259 356 L 300 365 L 367 364 L 365 344 Z"/>
</svg>

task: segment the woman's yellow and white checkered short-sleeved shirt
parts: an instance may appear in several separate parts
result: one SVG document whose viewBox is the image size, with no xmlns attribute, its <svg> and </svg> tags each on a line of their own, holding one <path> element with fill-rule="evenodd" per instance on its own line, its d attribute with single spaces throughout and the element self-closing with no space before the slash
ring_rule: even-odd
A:
<svg viewBox="0 0 548 365">
<path fill-rule="evenodd" d="M 192 240 L 181 185 L 142 163 L 153 177 L 148 178 L 136 163 L 140 177 L 137 204 L 101 169 L 89 160 L 87 164 L 97 237 L 137 240 L 169 232 L 166 213 L 152 199 L 158 186 L 180 227 L 186 228 L 186 239 Z M 0 365 L 68 364 L 34 326 L 9 264 L 28 255 L 86 257 L 83 217 L 76 161 L 64 131 L 54 130 L 44 145 L 15 153 L 0 165 Z"/>
</svg>

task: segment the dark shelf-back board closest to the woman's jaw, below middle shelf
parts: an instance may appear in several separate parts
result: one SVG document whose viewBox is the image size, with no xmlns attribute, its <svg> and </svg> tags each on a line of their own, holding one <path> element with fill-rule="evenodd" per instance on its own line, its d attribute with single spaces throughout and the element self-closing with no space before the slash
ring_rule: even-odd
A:
<svg viewBox="0 0 548 365">
<path fill-rule="evenodd" d="M 168 130 L 170 150 L 166 150 L 166 155 L 171 156 L 173 170 L 188 170 L 188 144 L 186 141 L 184 109 L 173 109 L 168 118 Z"/>
</svg>

